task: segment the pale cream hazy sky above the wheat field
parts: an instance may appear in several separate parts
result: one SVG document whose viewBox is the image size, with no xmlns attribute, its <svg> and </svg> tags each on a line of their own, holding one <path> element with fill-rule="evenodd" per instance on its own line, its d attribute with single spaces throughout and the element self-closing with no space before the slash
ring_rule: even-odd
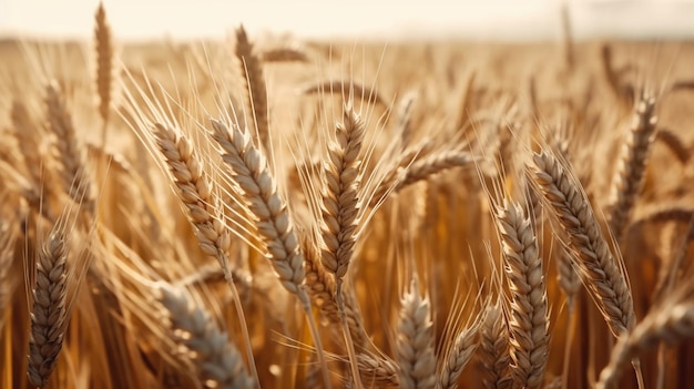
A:
<svg viewBox="0 0 694 389">
<path fill-rule="evenodd" d="M 249 32 L 303 38 L 559 37 L 562 0 L 104 0 L 121 40 Z M 694 38 L 694 0 L 565 0 L 581 38 Z M 99 0 L 0 0 L 0 37 L 88 38 Z"/>
</svg>

